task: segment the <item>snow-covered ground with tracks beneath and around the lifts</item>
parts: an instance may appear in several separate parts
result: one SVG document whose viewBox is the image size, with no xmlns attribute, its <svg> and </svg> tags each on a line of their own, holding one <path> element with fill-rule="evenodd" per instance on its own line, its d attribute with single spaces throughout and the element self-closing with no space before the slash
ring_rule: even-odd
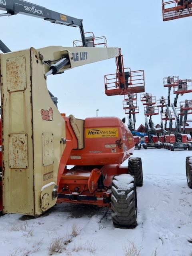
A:
<svg viewBox="0 0 192 256">
<path fill-rule="evenodd" d="M 135 229 L 114 228 L 110 210 L 95 206 L 60 204 L 40 218 L 6 214 L 0 217 L 0 255 L 47 256 L 52 239 L 60 238 L 67 241 L 61 256 L 124 256 L 130 242 L 141 249 L 140 256 L 192 256 L 192 190 L 185 174 L 191 154 L 134 151 L 144 172 Z"/>
</svg>

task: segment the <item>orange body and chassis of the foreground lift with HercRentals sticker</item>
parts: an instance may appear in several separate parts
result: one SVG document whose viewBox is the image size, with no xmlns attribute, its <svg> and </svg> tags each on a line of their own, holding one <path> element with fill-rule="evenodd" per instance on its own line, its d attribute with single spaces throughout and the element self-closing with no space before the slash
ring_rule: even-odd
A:
<svg viewBox="0 0 192 256">
<path fill-rule="evenodd" d="M 72 132 L 72 131 L 71 131 Z M 75 141 L 68 132 L 67 140 Z M 67 163 L 59 182 L 58 202 L 72 202 L 110 206 L 110 186 L 117 174 L 128 174 L 122 167 L 134 151 L 134 138 L 124 123 L 116 117 L 86 118 L 84 148 L 68 152 Z"/>
</svg>

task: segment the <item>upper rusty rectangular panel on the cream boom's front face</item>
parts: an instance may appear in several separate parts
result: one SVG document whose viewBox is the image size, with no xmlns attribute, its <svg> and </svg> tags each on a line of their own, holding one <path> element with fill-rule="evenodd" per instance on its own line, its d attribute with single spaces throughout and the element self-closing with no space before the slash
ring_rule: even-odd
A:
<svg viewBox="0 0 192 256">
<path fill-rule="evenodd" d="M 19 56 L 6 61 L 7 90 L 17 92 L 26 89 L 26 58 Z"/>
</svg>

